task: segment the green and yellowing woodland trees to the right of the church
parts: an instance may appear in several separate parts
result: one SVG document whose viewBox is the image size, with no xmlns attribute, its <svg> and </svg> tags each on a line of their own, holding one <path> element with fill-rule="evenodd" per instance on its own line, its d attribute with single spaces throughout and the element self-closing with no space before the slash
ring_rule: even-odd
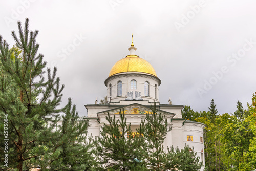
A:
<svg viewBox="0 0 256 171">
<path fill-rule="evenodd" d="M 253 96 L 254 97 L 254 96 Z M 252 99 L 253 101 L 253 99 Z M 237 102 L 234 115 L 216 115 L 217 109 L 211 101 L 209 114 L 196 118 L 206 124 L 204 129 L 205 165 L 207 170 L 252 170 L 256 153 L 253 152 L 253 104 L 249 110 Z M 252 124 L 253 123 L 253 124 Z M 253 164 L 252 164 L 253 163 Z"/>
</svg>

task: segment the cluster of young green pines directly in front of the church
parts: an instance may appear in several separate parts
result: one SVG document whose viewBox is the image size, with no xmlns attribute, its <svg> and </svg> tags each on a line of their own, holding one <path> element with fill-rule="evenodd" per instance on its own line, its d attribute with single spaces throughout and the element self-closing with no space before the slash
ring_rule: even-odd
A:
<svg viewBox="0 0 256 171">
<path fill-rule="evenodd" d="M 138 136 L 127 136 L 132 132 L 131 123 L 127 124 L 124 112 L 119 119 L 108 114 L 94 144 L 95 156 L 98 156 L 96 170 L 198 170 L 202 166 L 196 153 L 188 146 L 184 149 L 168 147 L 163 142 L 170 125 L 162 114 L 157 113 L 156 105 L 152 112 L 142 118 L 140 127 L 136 129 Z M 102 165 L 105 167 L 102 168 Z"/>
</svg>

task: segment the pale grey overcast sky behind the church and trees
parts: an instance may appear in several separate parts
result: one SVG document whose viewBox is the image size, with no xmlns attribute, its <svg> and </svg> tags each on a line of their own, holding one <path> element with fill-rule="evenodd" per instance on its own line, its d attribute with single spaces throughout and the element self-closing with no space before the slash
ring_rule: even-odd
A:
<svg viewBox="0 0 256 171">
<path fill-rule="evenodd" d="M 85 104 L 106 96 L 104 80 L 129 54 L 156 70 L 160 103 L 220 114 L 251 103 L 256 92 L 256 1 L 1 1 L 0 35 L 12 46 L 17 20 L 39 30 L 39 52 L 57 66 L 65 84 L 62 105 L 71 97 L 80 116 Z"/>
</svg>

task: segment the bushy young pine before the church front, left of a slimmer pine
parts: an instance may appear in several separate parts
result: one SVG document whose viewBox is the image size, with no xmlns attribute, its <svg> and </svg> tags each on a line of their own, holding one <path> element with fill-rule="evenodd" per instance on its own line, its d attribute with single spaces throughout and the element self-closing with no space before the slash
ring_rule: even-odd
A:
<svg viewBox="0 0 256 171">
<path fill-rule="evenodd" d="M 96 137 L 95 155 L 100 165 L 98 170 L 145 170 L 142 146 L 142 130 L 137 129 L 139 136 L 132 136 L 131 123 L 126 122 L 124 112 L 119 112 L 120 119 L 108 114 L 101 137 Z M 102 166 L 105 166 L 102 168 Z"/>
</svg>

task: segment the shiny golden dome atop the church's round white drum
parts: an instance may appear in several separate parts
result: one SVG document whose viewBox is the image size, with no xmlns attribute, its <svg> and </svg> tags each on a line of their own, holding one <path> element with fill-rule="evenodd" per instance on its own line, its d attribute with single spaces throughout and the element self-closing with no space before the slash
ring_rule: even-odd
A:
<svg viewBox="0 0 256 171">
<path fill-rule="evenodd" d="M 117 61 L 110 70 L 109 77 L 123 72 L 142 72 L 157 77 L 156 71 L 152 65 L 137 55 L 128 55 L 125 58 Z"/>
</svg>

